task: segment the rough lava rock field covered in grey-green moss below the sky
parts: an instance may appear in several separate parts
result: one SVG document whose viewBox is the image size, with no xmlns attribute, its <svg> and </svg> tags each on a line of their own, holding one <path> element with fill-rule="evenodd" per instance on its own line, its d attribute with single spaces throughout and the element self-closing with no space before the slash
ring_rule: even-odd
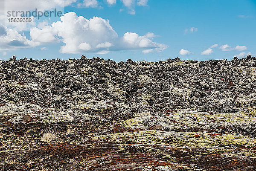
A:
<svg viewBox="0 0 256 171">
<path fill-rule="evenodd" d="M 255 171 L 256 58 L 0 61 L 0 170 Z"/>
</svg>

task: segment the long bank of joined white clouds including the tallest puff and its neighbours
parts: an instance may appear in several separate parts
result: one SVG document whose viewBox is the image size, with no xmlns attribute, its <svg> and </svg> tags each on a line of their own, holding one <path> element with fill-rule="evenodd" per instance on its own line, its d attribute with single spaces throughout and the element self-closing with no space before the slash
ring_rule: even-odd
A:
<svg viewBox="0 0 256 171">
<path fill-rule="evenodd" d="M 110 51 L 123 49 L 141 49 L 143 53 L 161 52 L 168 46 L 153 41 L 154 33 L 140 36 L 134 32 L 126 32 L 119 37 L 108 20 L 100 17 L 86 19 L 69 12 L 61 16 L 61 21 L 52 23 L 42 29 L 32 29 L 32 41 L 40 45 L 60 40 L 65 43 L 61 46 L 61 53 L 96 52 L 105 54 Z"/>
</svg>

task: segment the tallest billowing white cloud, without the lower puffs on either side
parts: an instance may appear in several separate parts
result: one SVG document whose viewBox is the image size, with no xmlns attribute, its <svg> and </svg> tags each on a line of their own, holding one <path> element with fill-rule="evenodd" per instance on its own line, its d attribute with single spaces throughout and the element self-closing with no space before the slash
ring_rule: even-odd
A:
<svg viewBox="0 0 256 171">
<path fill-rule="evenodd" d="M 88 50 L 97 52 L 97 45 L 105 42 L 111 43 L 118 38 L 108 20 L 100 17 L 87 20 L 82 16 L 76 16 L 74 12 L 61 16 L 61 21 L 52 23 L 52 27 L 58 30 L 58 36 L 65 43 L 61 46 L 61 53 L 81 53 Z M 85 43 L 84 41 L 90 45 L 90 48 L 86 44 L 81 44 Z"/>
</svg>

